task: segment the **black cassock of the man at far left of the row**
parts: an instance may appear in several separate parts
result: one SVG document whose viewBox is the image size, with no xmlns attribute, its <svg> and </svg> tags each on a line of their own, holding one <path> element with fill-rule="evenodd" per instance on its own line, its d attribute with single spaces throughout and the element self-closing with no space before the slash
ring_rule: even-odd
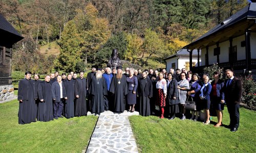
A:
<svg viewBox="0 0 256 153">
<path fill-rule="evenodd" d="M 19 124 L 26 124 L 36 121 L 34 85 L 33 80 L 23 79 L 19 81 L 18 100 L 23 100 L 23 102 L 19 102 Z"/>
</svg>

